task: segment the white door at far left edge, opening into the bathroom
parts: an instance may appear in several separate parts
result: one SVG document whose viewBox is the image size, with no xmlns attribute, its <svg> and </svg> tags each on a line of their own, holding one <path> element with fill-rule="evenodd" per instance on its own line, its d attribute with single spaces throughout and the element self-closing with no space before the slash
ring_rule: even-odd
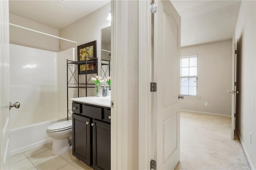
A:
<svg viewBox="0 0 256 170">
<path fill-rule="evenodd" d="M 0 169 L 9 169 L 9 2 L 0 0 Z"/>
</svg>

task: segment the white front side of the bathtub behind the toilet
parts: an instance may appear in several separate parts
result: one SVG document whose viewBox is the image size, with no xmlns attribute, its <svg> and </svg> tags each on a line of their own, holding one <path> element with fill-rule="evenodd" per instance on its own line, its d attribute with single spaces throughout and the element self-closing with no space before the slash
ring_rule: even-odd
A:
<svg viewBox="0 0 256 170">
<path fill-rule="evenodd" d="M 46 134 L 46 128 L 54 123 L 65 120 L 64 118 L 47 121 L 10 130 L 10 156 L 52 142 L 52 138 Z"/>
</svg>

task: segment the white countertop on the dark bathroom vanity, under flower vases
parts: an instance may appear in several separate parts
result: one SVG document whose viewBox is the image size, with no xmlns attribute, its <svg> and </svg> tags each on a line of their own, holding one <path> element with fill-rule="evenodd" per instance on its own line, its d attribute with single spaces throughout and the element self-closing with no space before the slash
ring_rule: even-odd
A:
<svg viewBox="0 0 256 170">
<path fill-rule="evenodd" d="M 89 96 L 89 97 L 78 97 L 74 99 L 70 99 L 72 101 L 78 101 L 81 103 L 88 103 L 91 105 L 98 105 L 98 106 L 104 106 L 104 107 L 110 107 L 110 100 L 111 97 L 96 97 L 96 96 Z"/>
</svg>

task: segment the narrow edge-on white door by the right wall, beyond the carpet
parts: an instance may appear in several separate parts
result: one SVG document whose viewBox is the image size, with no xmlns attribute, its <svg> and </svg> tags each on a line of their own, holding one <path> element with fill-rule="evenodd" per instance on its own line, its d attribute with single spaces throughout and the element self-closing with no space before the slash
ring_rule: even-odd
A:
<svg viewBox="0 0 256 170">
<path fill-rule="evenodd" d="M 236 65 L 237 65 L 237 59 L 236 59 L 236 40 L 235 35 L 233 35 L 232 38 L 232 89 L 231 91 L 228 90 L 228 93 L 231 93 L 231 138 L 234 139 L 234 131 L 236 129 L 236 95 L 238 91 L 236 90 Z"/>
</svg>

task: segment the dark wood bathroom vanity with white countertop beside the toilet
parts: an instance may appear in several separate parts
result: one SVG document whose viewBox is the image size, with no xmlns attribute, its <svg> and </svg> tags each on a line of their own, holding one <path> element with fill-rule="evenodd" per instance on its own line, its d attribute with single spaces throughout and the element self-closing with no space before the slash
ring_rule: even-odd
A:
<svg viewBox="0 0 256 170">
<path fill-rule="evenodd" d="M 94 170 L 110 170 L 110 97 L 71 100 L 73 155 Z"/>
</svg>

